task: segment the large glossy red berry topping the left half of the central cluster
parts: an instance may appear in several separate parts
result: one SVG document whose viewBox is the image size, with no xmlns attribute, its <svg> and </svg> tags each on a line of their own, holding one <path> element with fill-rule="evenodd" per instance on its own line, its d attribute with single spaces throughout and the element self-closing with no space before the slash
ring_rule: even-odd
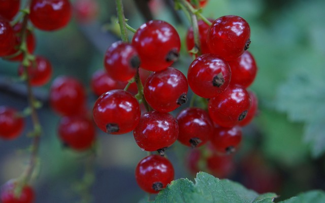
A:
<svg viewBox="0 0 325 203">
<path fill-rule="evenodd" d="M 138 28 L 132 45 L 139 53 L 143 69 L 161 71 L 177 60 L 181 41 L 171 24 L 151 20 Z"/>
</svg>

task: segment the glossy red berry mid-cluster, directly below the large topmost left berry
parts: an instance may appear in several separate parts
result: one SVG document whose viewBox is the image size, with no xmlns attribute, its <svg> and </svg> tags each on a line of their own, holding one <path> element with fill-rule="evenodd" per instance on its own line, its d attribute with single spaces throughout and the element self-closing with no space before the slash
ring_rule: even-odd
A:
<svg viewBox="0 0 325 203">
<path fill-rule="evenodd" d="M 171 112 L 187 101 L 188 83 L 182 72 L 174 67 L 155 72 L 147 79 L 143 93 L 156 111 Z"/>
</svg>

